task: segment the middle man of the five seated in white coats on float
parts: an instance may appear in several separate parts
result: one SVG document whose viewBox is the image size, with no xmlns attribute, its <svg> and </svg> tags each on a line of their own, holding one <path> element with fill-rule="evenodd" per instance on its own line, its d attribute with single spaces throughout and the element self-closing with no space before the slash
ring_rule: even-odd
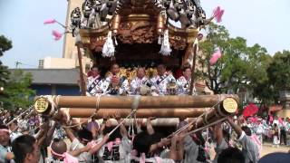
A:
<svg viewBox="0 0 290 163">
<path fill-rule="evenodd" d="M 140 94 L 140 88 L 145 86 L 147 82 L 148 79 L 145 76 L 145 69 L 143 67 L 139 67 L 137 69 L 136 78 L 131 81 L 131 94 Z"/>
</svg>

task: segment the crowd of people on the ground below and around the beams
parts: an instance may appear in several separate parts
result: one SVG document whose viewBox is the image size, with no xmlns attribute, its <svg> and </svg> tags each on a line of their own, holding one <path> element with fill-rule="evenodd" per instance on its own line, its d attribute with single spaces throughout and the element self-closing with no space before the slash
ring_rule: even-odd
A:
<svg viewBox="0 0 290 163">
<path fill-rule="evenodd" d="M 259 133 L 267 137 L 265 130 L 272 133 L 276 126 L 280 133 L 282 130 L 289 132 L 289 119 L 282 123 L 276 118 L 243 120 L 229 117 L 226 122 L 188 134 L 190 126 L 184 129 L 189 124 L 186 120 L 179 120 L 174 127 L 179 132 L 169 133 L 154 129 L 151 118 L 145 123 L 134 120 L 132 128 L 125 127 L 118 114 L 111 119 L 92 117 L 85 123 L 68 120 L 61 110 L 51 119 L 32 115 L 24 120 L 24 117 L 10 115 L 5 112 L 1 116 L 0 162 L 255 163 L 261 154 Z M 258 129 L 261 126 L 262 130 Z M 272 135 L 274 139 L 277 136 Z M 282 134 L 278 136 L 285 139 Z M 215 150 L 214 158 L 210 158 L 209 149 Z"/>
</svg>

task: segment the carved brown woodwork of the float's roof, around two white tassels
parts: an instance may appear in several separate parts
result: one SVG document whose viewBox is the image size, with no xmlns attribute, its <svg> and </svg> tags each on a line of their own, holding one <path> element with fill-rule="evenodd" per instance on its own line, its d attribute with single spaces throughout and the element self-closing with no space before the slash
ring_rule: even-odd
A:
<svg viewBox="0 0 290 163">
<path fill-rule="evenodd" d="M 157 17 L 161 8 L 154 5 L 154 0 L 124 0 L 118 14 L 121 16 L 116 38 L 122 43 L 153 43 L 159 39 Z M 115 14 L 116 16 L 116 14 Z M 165 19 L 165 18 L 164 18 Z M 111 19 L 113 20 L 113 18 Z M 165 24 L 165 21 L 163 22 Z M 113 22 L 110 23 L 113 25 Z M 167 26 L 166 26 L 167 25 Z M 169 43 L 173 49 L 184 50 L 194 42 L 198 34 L 195 28 L 177 28 L 165 24 L 169 29 Z M 109 25 L 98 29 L 80 29 L 82 43 L 94 52 L 102 52 Z"/>
</svg>

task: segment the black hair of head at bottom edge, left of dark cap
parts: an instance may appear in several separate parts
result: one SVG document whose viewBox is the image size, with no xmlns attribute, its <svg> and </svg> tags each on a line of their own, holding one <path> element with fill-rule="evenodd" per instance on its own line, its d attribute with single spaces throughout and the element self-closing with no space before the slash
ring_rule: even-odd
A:
<svg viewBox="0 0 290 163">
<path fill-rule="evenodd" d="M 237 148 L 227 148 L 218 155 L 218 163 L 245 163 L 245 157 Z"/>
</svg>

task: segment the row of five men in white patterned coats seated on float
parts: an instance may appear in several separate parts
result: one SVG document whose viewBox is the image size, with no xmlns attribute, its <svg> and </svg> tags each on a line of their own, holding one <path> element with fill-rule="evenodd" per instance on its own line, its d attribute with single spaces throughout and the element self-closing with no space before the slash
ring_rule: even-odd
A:
<svg viewBox="0 0 290 163">
<path fill-rule="evenodd" d="M 138 67 L 136 76 L 129 82 L 120 72 L 117 63 L 111 65 L 110 72 L 93 66 L 87 80 L 87 95 L 180 95 L 189 94 L 191 68 L 184 67 L 182 75 L 176 79 L 167 71 L 165 64 L 156 67 L 157 74 L 147 76 L 144 67 Z"/>
</svg>

